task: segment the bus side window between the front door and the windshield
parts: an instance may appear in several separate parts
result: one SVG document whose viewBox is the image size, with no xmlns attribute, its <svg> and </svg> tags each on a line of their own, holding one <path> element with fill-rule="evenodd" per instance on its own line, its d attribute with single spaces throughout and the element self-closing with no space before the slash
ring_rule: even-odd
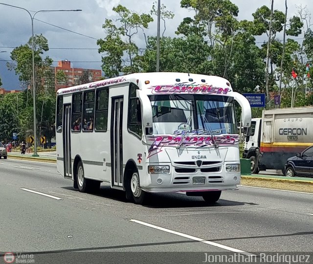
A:
<svg viewBox="0 0 313 264">
<path fill-rule="evenodd" d="M 139 89 L 135 84 L 130 84 L 129 87 L 129 102 L 128 102 L 128 131 L 133 132 L 139 138 L 142 135 L 141 125 L 141 105 L 136 98 L 136 90 Z"/>
</svg>

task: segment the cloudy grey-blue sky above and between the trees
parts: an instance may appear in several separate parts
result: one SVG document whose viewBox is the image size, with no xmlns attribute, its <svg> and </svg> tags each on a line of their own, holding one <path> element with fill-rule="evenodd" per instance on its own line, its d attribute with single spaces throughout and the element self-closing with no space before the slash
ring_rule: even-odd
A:
<svg viewBox="0 0 313 264">
<path fill-rule="evenodd" d="M 43 34 L 50 50 L 46 53 L 57 61 L 67 59 L 74 67 L 101 68 L 101 54 L 97 51 L 96 40 L 104 38 L 102 24 L 106 18 L 115 19 L 112 7 L 122 4 L 140 13 L 148 13 L 156 0 L 0 0 L 6 3 L 26 8 L 31 14 L 37 10 L 82 9 L 82 12 L 50 12 L 38 13 L 34 20 L 34 34 Z M 232 0 L 239 7 L 238 19 L 251 20 L 252 13 L 262 5 L 270 4 L 269 0 Z M 307 6 L 307 11 L 313 14 L 312 0 L 288 0 L 288 17 L 296 14 L 297 6 Z M 167 23 L 165 35 L 174 36 L 177 26 L 184 17 L 193 16 L 193 12 L 180 8 L 180 0 L 161 0 L 168 9 L 175 13 L 173 21 Z M 297 6 L 296 6 L 297 5 Z M 285 10 L 285 0 L 274 0 L 274 9 Z M 156 18 L 147 30 L 148 35 L 156 35 Z M 40 20 L 40 21 L 38 21 Z M 44 23 L 45 22 L 45 23 Z M 48 24 L 47 24 L 48 23 Z M 52 25 L 58 26 L 52 26 Z M 71 33 L 65 28 L 77 32 Z M 162 27 L 161 27 L 162 30 Z M 0 77 L 2 87 L 19 89 L 20 84 L 14 72 L 7 70 L 6 61 L 10 60 L 12 47 L 25 44 L 31 36 L 31 20 L 26 11 L 0 4 Z M 141 36 L 137 44 L 143 47 Z M 260 37 L 258 41 L 263 41 Z M 86 48 L 86 49 L 84 49 Z M 87 49 L 88 48 L 88 49 Z"/>
</svg>

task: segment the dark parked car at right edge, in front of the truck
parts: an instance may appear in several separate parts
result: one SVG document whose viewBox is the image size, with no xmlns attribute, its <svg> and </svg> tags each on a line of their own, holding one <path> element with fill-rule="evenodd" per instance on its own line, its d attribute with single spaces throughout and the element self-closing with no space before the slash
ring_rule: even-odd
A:
<svg viewBox="0 0 313 264">
<path fill-rule="evenodd" d="M 285 172 L 285 175 L 290 177 L 313 177 L 313 146 L 287 159 Z"/>
</svg>

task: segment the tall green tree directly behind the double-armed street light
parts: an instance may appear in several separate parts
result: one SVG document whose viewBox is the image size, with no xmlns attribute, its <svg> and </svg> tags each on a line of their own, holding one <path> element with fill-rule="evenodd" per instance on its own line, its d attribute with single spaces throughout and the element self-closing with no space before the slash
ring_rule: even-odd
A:
<svg viewBox="0 0 313 264">
<path fill-rule="evenodd" d="M 12 63 L 7 64 L 10 70 L 15 70 L 19 75 L 19 80 L 26 84 L 26 87 L 31 87 L 32 75 L 32 38 L 27 44 L 16 47 L 11 52 Z M 55 84 L 53 74 L 51 72 L 52 59 L 49 56 L 43 56 L 45 51 L 48 51 L 48 41 L 43 35 L 34 36 L 34 62 L 35 62 L 35 87 L 36 87 L 36 124 L 37 138 L 43 135 L 47 128 L 54 124 L 55 111 L 52 111 L 50 102 L 55 101 Z M 33 89 L 26 90 L 24 100 L 25 107 L 19 111 L 21 133 L 29 135 L 33 132 L 33 117 L 32 100 L 28 97 L 33 97 Z M 55 107 L 53 106 L 53 109 Z"/>
</svg>

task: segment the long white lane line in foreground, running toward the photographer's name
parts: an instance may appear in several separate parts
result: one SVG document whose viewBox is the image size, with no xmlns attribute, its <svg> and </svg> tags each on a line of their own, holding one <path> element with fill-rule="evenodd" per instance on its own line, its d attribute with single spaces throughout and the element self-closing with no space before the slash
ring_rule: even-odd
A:
<svg viewBox="0 0 313 264">
<path fill-rule="evenodd" d="M 195 241 L 198 241 L 198 242 L 201 242 L 201 243 L 204 243 L 204 244 L 208 244 L 208 245 L 216 246 L 216 247 L 219 247 L 219 248 L 223 248 L 223 249 L 228 250 L 228 251 L 240 253 L 240 254 L 247 255 L 247 256 L 256 256 L 256 255 L 254 255 L 252 253 L 249 253 L 249 252 L 237 249 L 237 248 L 225 246 L 225 245 L 222 245 L 222 244 L 219 244 L 219 243 L 215 243 L 215 242 L 212 242 L 212 241 L 208 241 L 208 240 L 204 240 L 204 239 L 197 238 L 197 237 L 194 237 L 194 236 L 190 236 L 190 235 L 187 235 L 187 234 L 183 234 L 183 233 L 180 233 L 180 232 L 176 232 L 176 231 L 173 231 L 173 230 L 170 230 L 170 229 L 167 229 L 167 228 L 163 228 L 163 227 L 160 227 L 160 226 L 157 226 L 157 225 L 154 225 L 154 224 L 146 223 L 146 222 L 135 220 L 135 219 L 130 219 L 130 221 L 138 223 L 138 224 L 142 224 L 142 225 L 145 225 L 145 226 L 149 226 L 149 227 L 152 227 L 152 228 L 155 228 L 155 229 L 167 232 L 167 233 L 178 235 L 180 237 L 184 237 L 184 238 L 187 238 L 187 239 L 195 240 Z"/>
</svg>

